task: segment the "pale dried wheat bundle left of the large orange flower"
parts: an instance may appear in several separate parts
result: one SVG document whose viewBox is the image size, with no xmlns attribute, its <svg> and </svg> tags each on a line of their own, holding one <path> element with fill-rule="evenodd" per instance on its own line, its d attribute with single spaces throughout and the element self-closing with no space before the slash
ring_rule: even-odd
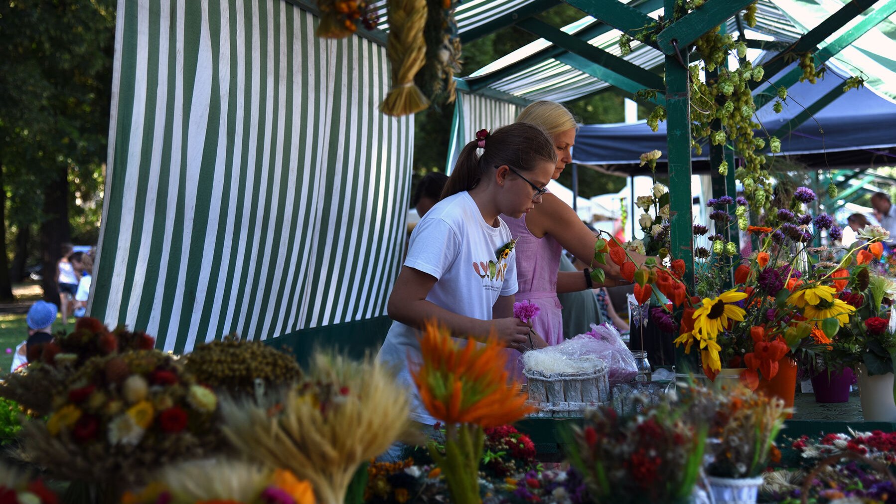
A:
<svg viewBox="0 0 896 504">
<path fill-rule="evenodd" d="M 246 456 L 311 482 L 317 500 L 341 504 L 352 475 L 409 430 L 407 391 L 367 356 L 314 355 L 306 382 L 273 407 L 222 399 L 222 430 Z"/>
</svg>

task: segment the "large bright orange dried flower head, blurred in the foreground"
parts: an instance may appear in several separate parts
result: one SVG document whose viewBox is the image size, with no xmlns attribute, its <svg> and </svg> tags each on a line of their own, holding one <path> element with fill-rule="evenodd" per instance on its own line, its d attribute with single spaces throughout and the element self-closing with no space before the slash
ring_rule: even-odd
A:
<svg viewBox="0 0 896 504">
<path fill-rule="evenodd" d="M 468 339 L 455 343 L 444 326 L 427 322 L 420 339 L 423 363 L 412 376 L 420 399 L 436 419 L 447 424 L 497 427 L 513 423 L 535 408 L 508 383 L 504 348 L 490 337 L 485 345 Z"/>
</svg>

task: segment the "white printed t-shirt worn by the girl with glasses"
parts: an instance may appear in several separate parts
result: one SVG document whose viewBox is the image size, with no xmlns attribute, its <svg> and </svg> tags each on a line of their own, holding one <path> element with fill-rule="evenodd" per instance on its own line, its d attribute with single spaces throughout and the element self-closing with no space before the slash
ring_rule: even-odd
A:
<svg viewBox="0 0 896 504">
<path fill-rule="evenodd" d="M 516 293 L 515 251 L 504 259 L 495 256 L 513 239 L 507 224 L 498 221 L 499 227 L 490 226 L 467 192 L 449 196 L 426 212 L 410 235 L 404 261 L 435 276 L 426 300 L 459 315 L 491 320 L 498 297 Z M 419 337 L 417 329 L 392 322 L 377 359 L 398 370 L 399 383 L 409 389 L 411 419 L 432 425 L 435 418 L 420 402 L 410 376 L 409 361 L 420 362 Z"/>
</svg>

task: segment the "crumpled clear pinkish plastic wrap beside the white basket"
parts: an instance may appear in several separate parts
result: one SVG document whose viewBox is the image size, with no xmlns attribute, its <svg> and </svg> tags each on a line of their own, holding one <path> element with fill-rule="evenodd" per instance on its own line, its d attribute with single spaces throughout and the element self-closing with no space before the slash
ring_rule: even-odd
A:
<svg viewBox="0 0 896 504">
<path fill-rule="evenodd" d="M 634 355 L 628 349 L 616 327 L 606 322 L 597 326 L 591 324 L 591 330 L 583 335 L 575 336 L 563 344 L 570 344 L 570 351 L 582 355 L 593 355 L 607 363 L 607 378 L 610 387 L 628 383 L 638 374 Z"/>
</svg>

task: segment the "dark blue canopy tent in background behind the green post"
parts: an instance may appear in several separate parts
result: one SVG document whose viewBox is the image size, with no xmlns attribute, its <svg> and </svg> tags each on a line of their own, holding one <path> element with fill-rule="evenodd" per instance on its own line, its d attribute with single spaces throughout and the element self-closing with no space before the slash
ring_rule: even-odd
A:
<svg viewBox="0 0 896 504">
<path fill-rule="evenodd" d="M 844 77 L 832 68 L 823 80 L 815 84 L 797 83 L 788 90 L 788 100 L 780 114 L 774 113 L 771 109 L 773 102 L 769 102 L 757 113 L 757 122 L 773 134 L 828 91 L 843 84 Z M 766 88 L 767 85 L 756 93 L 774 92 L 766 91 Z M 878 163 L 896 164 L 896 152 L 890 150 L 896 146 L 896 126 L 893 125 L 896 125 L 896 103 L 866 88 L 850 90 L 815 114 L 814 119 L 809 118 L 788 135 L 781 135 L 781 153 L 861 152 L 860 159 L 866 159 L 869 154 L 879 154 Z M 765 133 L 759 132 L 758 135 Z M 642 152 L 653 150 L 666 153 L 665 123 L 659 124 L 657 132 L 650 131 L 650 126 L 644 121 L 584 125 L 575 137 L 573 161 L 599 165 L 637 164 Z M 709 150 L 704 148 L 702 156 L 694 153 L 694 161 L 706 160 L 708 156 Z M 849 160 L 849 157 L 838 156 L 837 159 Z M 661 157 L 659 161 L 664 162 L 666 158 Z M 838 161 L 841 162 L 844 161 Z"/>
</svg>

